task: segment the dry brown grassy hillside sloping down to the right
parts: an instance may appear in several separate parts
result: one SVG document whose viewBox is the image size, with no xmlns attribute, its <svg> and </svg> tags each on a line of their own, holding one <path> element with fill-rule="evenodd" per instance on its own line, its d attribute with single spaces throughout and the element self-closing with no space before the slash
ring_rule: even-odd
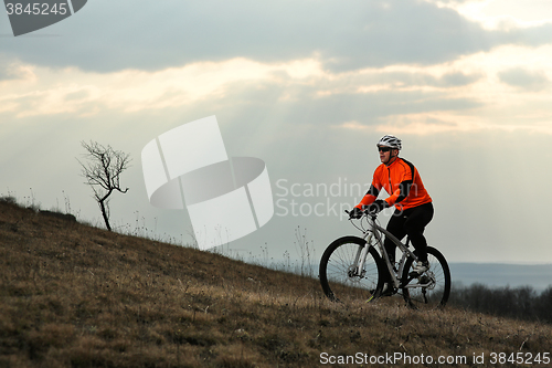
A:
<svg viewBox="0 0 552 368">
<path fill-rule="evenodd" d="M 394 354 L 399 367 L 534 367 L 491 354 L 542 359 L 551 336 L 396 298 L 333 304 L 317 280 L 0 203 L 0 367 L 390 366 Z"/>
</svg>

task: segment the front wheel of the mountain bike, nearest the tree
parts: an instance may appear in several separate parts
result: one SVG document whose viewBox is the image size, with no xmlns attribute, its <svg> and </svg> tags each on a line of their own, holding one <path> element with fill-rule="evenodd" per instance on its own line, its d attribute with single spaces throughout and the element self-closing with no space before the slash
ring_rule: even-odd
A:
<svg viewBox="0 0 552 368">
<path fill-rule="evenodd" d="M 373 301 L 383 287 L 380 277 L 383 261 L 372 246 L 361 275 L 352 275 L 355 256 L 367 245 L 364 239 L 343 236 L 335 240 L 322 254 L 319 277 L 323 293 L 332 302 Z"/>
</svg>

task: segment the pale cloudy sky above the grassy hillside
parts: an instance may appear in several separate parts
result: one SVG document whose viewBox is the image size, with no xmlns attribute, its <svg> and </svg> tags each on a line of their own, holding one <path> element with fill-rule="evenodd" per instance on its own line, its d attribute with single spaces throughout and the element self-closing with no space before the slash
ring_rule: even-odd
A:
<svg viewBox="0 0 552 368">
<path fill-rule="evenodd" d="M 552 263 L 551 61 L 548 0 L 94 0 L 17 38 L 0 11 L 0 193 L 102 227 L 77 161 L 98 141 L 132 158 L 114 228 L 189 244 L 188 212 L 149 203 L 140 153 L 215 115 L 229 156 L 266 162 L 275 204 L 224 250 L 299 263 L 306 241 L 317 262 L 359 234 L 343 209 L 392 134 L 449 262 Z"/>
</svg>

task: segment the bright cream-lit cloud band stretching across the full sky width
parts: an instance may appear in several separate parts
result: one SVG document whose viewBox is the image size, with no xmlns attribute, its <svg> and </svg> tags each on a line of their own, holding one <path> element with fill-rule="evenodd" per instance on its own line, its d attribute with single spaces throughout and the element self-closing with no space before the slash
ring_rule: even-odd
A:
<svg viewBox="0 0 552 368">
<path fill-rule="evenodd" d="M 529 64 L 545 71 L 551 55 L 552 46 L 505 46 L 436 65 L 349 72 L 325 70 L 315 57 L 287 63 L 237 57 L 110 73 L 23 64 L 28 77 L 3 82 L 0 113 L 4 123 L 112 113 L 117 119 L 138 113 L 166 120 L 172 114 L 181 116 L 182 111 L 189 120 L 223 114 L 248 122 L 236 132 L 265 134 L 268 129 L 276 137 L 273 140 L 287 134 L 283 126 L 304 132 L 301 137 L 315 126 L 392 128 L 421 135 L 511 127 L 550 134 L 550 97 L 534 98 L 521 87 L 505 90 L 497 71 Z"/>
</svg>

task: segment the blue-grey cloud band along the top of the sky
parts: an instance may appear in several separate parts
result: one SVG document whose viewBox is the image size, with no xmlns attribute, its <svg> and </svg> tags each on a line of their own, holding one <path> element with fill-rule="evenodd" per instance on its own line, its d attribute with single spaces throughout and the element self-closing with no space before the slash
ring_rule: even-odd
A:
<svg viewBox="0 0 552 368">
<path fill-rule="evenodd" d="M 47 29 L 56 38 L 2 40 L 6 59 L 107 73 L 245 57 L 315 57 L 344 72 L 433 65 L 500 44 L 552 42 L 549 25 L 488 31 L 448 8 L 414 0 L 319 2 L 97 0 Z M 44 31 L 46 32 L 46 31 Z"/>
</svg>

